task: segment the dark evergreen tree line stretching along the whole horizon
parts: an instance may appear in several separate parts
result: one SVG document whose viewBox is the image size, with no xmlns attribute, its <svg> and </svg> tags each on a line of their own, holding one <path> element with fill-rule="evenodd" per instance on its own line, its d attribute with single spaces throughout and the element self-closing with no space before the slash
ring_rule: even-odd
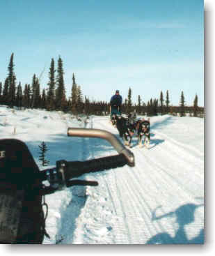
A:
<svg viewBox="0 0 215 256">
<path fill-rule="evenodd" d="M 54 59 L 51 59 L 49 68 L 49 82 L 47 89 L 40 89 L 40 78 L 33 75 L 31 84 L 16 83 L 17 78 L 14 71 L 13 63 L 14 54 L 11 54 L 10 63 L 8 65 L 8 76 L 4 84 L 0 82 L 0 104 L 8 105 L 9 107 L 24 108 L 42 108 L 46 110 L 61 110 L 63 112 L 72 112 L 72 114 L 108 114 L 109 103 L 104 101 L 91 100 L 88 97 L 83 98 L 81 86 L 77 84 L 74 73 L 72 75 L 72 89 L 70 97 L 65 96 L 65 82 L 63 61 L 58 57 L 57 67 L 55 67 Z M 200 116 L 204 113 L 204 107 L 198 107 L 198 96 L 193 100 L 193 106 L 186 106 L 184 93 L 180 96 L 180 105 L 170 105 L 169 93 L 166 91 L 164 99 L 161 91 L 159 99 L 150 99 L 148 102 L 143 102 L 141 96 L 138 95 L 138 103 L 132 103 L 132 89 L 129 87 L 128 96 L 122 104 L 122 113 L 136 111 L 138 114 L 147 114 L 154 116 L 157 114 L 176 114 L 185 116 L 189 113 L 190 116 Z"/>
</svg>

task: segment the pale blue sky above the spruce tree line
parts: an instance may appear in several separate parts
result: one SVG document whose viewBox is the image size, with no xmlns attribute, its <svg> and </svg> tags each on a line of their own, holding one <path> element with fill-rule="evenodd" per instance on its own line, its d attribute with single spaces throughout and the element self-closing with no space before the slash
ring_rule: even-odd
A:
<svg viewBox="0 0 215 256">
<path fill-rule="evenodd" d="M 178 105 L 204 105 L 203 0 L 1 0 L 0 81 L 14 53 L 22 85 L 40 76 L 47 88 L 51 58 L 63 59 L 65 89 L 72 73 L 83 95 L 109 101 L 116 89 L 144 102 L 169 91 Z"/>
</svg>

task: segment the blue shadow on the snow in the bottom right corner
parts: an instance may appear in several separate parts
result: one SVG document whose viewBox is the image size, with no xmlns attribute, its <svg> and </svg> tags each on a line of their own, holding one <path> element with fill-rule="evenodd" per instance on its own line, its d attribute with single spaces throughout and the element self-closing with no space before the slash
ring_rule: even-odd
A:
<svg viewBox="0 0 215 256">
<path fill-rule="evenodd" d="M 161 220 L 162 218 L 176 218 L 178 229 L 175 236 L 172 237 L 167 232 L 159 233 L 150 238 L 146 244 L 193 244 L 193 243 L 204 243 L 204 229 L 201 229 L 198 236 L 193 239 L 188 239 L 185 231 L 185 225 L 189 225 L 194 221 L 194 212 L 196 209 L 203 204 L 184 204 L 177 208 L 173 212 L 165 213 L 162 216 L 156 216 L 157 209 L 161 208 L 158 206 L 152 212 L 152 221 Z"/>
</svg>

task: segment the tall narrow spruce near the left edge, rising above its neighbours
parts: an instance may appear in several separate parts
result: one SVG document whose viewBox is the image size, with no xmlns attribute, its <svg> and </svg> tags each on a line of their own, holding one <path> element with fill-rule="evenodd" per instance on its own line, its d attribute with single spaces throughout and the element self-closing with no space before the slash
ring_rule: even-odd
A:
<svg viewBox="0 0 215 256">
<path fill-rule="evenodd" d="M 10 107 L 13 107 L 15 105 L 15 73 L 14 73 L 14 63 L 13 63 L 13 54 L 11 54 L 10 57 L 10 63 L 8 66 L 8 86 L 9 86 L 9 91 L 8 91 L 8 101 Z"/>
</svg>

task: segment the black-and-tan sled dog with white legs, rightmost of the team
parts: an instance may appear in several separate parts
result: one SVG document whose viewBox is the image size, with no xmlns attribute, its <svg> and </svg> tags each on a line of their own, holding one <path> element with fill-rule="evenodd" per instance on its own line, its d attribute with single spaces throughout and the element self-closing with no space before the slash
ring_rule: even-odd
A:
<svg viewBox="0 0 215 256">
<path fill-rule="evenodd" d="M 150 144 L 150 119 L 148 120 L 142 119 L 137 121 L 136 130 L 137 130 L 137 137 L 138 137 L 138 145 L 140 147 L 144 145 L 146 148 L 148 148 Z"/>
</svg>

